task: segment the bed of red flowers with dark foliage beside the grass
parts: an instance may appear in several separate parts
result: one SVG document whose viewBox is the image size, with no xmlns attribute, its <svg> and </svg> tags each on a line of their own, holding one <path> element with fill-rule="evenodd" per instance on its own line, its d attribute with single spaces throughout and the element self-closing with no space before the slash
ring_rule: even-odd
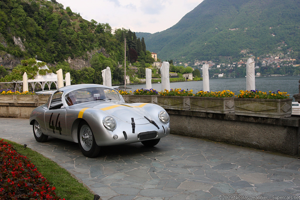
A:
<svg viewBox="0 0 300 200">
<path fill-rule="evenodd" d="M 55 187 L 49 185 L 26 156 L 3 140 L 0 140 L 0 185 L 0 199 L 60 199 Z"/>
</svg>

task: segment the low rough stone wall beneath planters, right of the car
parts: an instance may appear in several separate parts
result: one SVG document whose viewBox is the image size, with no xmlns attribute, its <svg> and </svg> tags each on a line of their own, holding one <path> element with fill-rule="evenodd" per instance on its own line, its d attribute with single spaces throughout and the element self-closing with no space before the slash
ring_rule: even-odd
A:
<svg viewBox="0 0 300 200">
<path fill-rule="evenodd" d="M 300 117 L 265 118 L 170 110 L 171 133 L 287 155 L 299 154 Z"/>
</svg>

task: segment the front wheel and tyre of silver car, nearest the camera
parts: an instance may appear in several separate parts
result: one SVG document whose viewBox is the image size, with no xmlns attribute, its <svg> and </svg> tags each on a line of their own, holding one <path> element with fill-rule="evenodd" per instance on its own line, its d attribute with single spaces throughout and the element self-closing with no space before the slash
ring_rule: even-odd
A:
<svg viewBox="0 0 300 200">
<path fill-rule="evenodd" d="M 79 124 L 77 138 L 79 148 L 84 156 L 94 158 L 99 155 L 100 147 L 96 144 L 94 134 L 85 121 Z"/>
</svg>

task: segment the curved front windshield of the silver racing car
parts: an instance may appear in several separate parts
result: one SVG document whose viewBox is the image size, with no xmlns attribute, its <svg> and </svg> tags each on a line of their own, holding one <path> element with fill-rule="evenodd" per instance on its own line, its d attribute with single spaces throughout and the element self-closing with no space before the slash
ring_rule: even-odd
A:
<svg viewBox="0 0 300 200">
<path fill-rule="evenodd" d="M 65 95 L 68 106 L 90 101 L 121 101 L 118 91 L 109 88 L 83 88 Z"/>
</svg>

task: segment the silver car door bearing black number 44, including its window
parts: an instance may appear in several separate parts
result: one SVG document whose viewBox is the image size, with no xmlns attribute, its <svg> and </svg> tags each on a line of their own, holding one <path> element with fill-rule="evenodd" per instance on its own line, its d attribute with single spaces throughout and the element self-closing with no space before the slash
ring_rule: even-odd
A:
<svg viewBox="0 0 300 200">
<path fill-rule="evenodd" d="M 66 108 L 61 101 L 62 92 L 52 95 L 49 108 L 45 112 L 45 125 L 49 135 L 66 134 Z"/>
</svg>

